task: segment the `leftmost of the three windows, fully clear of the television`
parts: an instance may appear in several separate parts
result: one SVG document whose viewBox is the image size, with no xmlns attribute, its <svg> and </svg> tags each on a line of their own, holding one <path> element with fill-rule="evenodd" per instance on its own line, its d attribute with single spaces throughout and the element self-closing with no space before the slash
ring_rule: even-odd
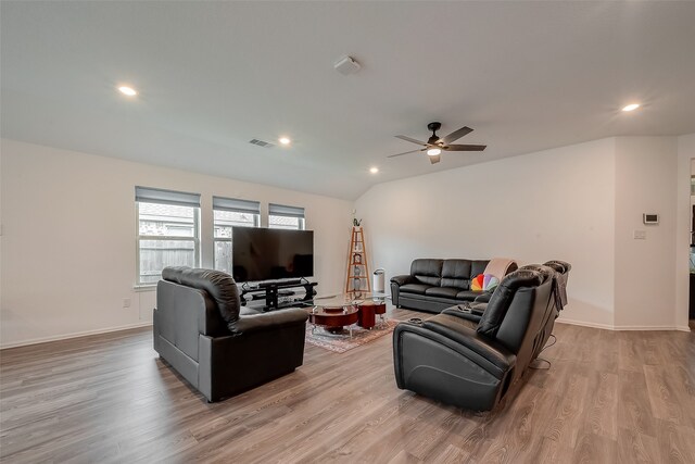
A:
<svg viewBox="0 0 695 464">
<path fill-rule="evenodd" d="M 166 266 L 200 265 L 200 195 L 135 188 L 138 285 L 156 284 Z"/>
</svg>

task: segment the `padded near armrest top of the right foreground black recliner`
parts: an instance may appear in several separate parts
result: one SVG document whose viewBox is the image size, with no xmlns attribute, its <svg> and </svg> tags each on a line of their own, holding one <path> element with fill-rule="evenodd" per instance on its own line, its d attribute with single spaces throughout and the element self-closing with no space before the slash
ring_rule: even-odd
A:
<svg viewBox="0 0 695 464">
<path fill-rule="evenodd" d="M 425 321 L 422 327 L 463 344 L 501 369 L 507 371 L 516 364 L 517 356 L 514 353 L 467 327 L 457 316 L 440 314 Z"/>
</svg>

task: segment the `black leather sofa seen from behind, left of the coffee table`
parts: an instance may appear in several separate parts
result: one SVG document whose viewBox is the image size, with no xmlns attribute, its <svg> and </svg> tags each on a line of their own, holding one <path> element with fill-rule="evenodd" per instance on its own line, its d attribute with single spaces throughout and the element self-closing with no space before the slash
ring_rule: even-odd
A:
<svg viewBox="0 0 695 464">
<path fill-rule="evenodd" d="M 305 310 L 241 311 L 218 271 L 166 267 L 157 284 L 154 350 L 207 401 L 293 372 L 304 360 Z"/>
</svg>

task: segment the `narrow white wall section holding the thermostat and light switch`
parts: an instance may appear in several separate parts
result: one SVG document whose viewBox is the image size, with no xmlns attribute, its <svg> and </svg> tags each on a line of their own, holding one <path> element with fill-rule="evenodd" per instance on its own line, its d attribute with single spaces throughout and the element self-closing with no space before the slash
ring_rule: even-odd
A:
<svg viewBox="0 0 695 464">
<path fill-rule="evenodd" d="M 616 139 L 616 328 L 675 326 L 677 173 L 674 137 Z M 659 224 L 644 225 L 643 213 Z"/>
</svg>

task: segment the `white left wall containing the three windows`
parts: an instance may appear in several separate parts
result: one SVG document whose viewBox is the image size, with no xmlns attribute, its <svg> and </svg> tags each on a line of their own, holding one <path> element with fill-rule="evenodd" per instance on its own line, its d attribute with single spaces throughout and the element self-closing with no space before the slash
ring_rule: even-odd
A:
<svg viewBox="0 0 695 464">
<path fill-rule="evenodd" d="M 154 291 L 134 290 L 136 185 L 200 192 L 202 237 L 212 236 L 213 195 L 258 200 L 264 212 L 304 206 L 317 290 L 342 288 L 351 202 L 7 139 L 0 150 L 2 347 L 151 321 Z M 211 267 L 212 240 L 202 244 Z"/>
</svg>

